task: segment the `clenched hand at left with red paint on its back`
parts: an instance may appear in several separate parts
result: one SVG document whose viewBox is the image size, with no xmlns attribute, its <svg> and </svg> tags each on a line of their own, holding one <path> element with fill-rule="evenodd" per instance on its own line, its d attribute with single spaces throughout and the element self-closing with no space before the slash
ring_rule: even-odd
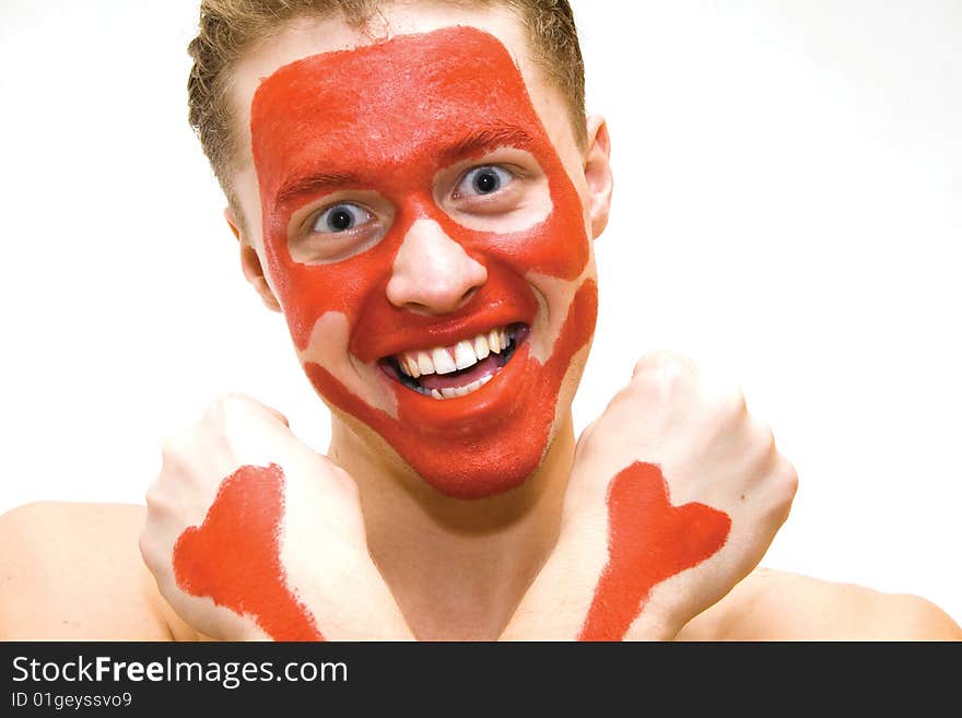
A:
<svg viewBox="0 0 962 718">
<path fill-rule="evenodd" d="M 243 395 L 163 448 L 140 538 L 162 596 L 222 640 L 410 639 L 354 480 Z"/>
</svg>

